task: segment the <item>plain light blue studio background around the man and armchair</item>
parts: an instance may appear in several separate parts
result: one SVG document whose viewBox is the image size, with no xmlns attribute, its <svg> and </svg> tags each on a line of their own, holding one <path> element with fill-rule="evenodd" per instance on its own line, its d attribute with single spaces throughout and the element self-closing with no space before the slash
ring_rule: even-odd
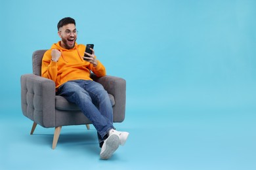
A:
<svg viewBox="0 0 256 170">
<path fill-rule="evenodd" d="M 256 169 L 256 1 L 1 1 L 1 169 Z M 98 160 L 95 130 L 37 127 L 20 108 L 32 53 L 77 22 L 108 75 L 127 80 L 131 133 Z"/>
</svg>

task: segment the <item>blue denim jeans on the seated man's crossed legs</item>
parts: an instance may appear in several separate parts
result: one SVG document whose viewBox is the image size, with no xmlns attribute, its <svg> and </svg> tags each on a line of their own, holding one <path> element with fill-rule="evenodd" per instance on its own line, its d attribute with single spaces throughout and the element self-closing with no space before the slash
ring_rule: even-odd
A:
<svg viewBox="0 0 256 170">
<path fill-rule="evenodd" d="M 92 80 L 72 80 L 62 84 L 57 95 L 75 103 L 95 126 L 100 146 L 113 126 L 113 111 L 110 98 L 103 86 Z"/>
</svg>

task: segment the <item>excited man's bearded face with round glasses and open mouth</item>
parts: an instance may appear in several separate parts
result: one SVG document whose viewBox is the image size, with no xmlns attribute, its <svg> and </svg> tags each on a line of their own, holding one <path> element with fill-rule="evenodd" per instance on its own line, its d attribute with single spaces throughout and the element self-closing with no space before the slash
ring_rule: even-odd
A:
<svg viewBox="0 0 256 170">
<path fill-rule="evenodd" d="M 71 49 L 75 46 L 77 31 L 74 24 L 64 25 L 58 30 L 58 36 L 61 38 L 62 48 Z"/>
</svg>

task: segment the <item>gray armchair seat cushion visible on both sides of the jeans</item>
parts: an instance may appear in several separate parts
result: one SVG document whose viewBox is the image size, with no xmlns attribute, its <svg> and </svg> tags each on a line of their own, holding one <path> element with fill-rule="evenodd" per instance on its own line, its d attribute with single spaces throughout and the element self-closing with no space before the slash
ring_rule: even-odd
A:
<svg viewBox="0 0 256 170">
<path fill-rule="evenodd" d="M 112 103 L 112 107 L 115 105 L 115 99 L 114 96 L 111 94 L 108 94 L 110 96 L 110 101 Z M 55 96 L 55 108 L 58 110 L 80 110 L 75 103 L 70 103 L 67 101 L 64 97 L 60 95 Z"/>
</svg>

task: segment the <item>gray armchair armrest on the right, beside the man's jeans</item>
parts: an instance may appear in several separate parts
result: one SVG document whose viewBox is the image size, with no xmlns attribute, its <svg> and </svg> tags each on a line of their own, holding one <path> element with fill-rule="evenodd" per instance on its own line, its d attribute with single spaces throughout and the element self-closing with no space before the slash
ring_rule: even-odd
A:
<svg viewBox="0 0 256 170">
<path fill-rule="evenodd" d="M 100 78 L 92 75 L 93 80 L 102 84 L 104 89 L 114 95 L 115 105 L 113 108 L 114 122 L 123 122 L 125 119 L 126 81 L 117 76 L 102 76 Z"/>
</svg>

